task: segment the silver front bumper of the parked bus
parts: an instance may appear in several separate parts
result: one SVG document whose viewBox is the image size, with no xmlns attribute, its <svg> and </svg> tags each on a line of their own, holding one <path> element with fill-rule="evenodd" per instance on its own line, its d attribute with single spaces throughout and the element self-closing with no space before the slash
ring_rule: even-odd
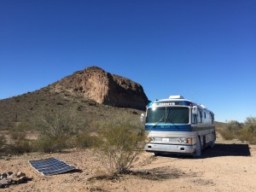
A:
<svg viewBox="0 0 256 192">
<path fill-rule="evenodd" d="M 195 154 L 196 145 L 172 145 L 146 143 L 145 150 L 151 153 Z"/>
</svg>

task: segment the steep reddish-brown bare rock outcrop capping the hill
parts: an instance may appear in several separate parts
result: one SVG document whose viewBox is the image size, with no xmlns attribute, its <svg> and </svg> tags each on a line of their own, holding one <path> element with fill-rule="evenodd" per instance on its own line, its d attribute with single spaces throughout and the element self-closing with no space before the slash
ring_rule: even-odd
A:
<svg viewBox="0 0 256 192">
<path fill-rule="evenodd" d="M 144 109 L 148 104 L 142 85 L 100 67 L 88 67 L 61 79 L 55 83 L 55 90 L 59 89 L 114 107 Z"/>
</svg>

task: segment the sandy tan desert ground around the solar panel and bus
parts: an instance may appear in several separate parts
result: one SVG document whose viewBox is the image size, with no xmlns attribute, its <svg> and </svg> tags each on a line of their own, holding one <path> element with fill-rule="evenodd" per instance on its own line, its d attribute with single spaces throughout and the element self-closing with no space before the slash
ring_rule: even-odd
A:
<svg viewBox="0 0 256 192">
<path fill-rule="evenodd" d="M 45 177 L 28 160 L 56 157 L 79 171 Z M 31 180 L 0 191 L 256 191 L 256 145 L 224 141 L 218 136 L 214 148 L 201 158 L 154 156 L 143 152 L 131 173 L 104 177 L 102 157 L 93 149 L 69 150 L 56 154 L 22 154 L 2 157 L 0 172 L 25 172 Z"/>
</svg>

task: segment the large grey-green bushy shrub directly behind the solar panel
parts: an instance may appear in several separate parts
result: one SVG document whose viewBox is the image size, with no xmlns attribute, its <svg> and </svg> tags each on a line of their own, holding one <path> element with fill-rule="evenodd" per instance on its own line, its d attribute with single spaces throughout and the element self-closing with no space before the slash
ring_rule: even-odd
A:
<svg viewBox="0 0 256 192">
<path fill-rule="evenodd" d="M 84 127 L 84 121 L 73 108 L 44 108 L 43 113 L 34 119 L 38 127 L 39 137 L 35 141 L 34 150 L 44 152 L 61 151 L 63 148 L 73 147 L 72 137 Z"/>
</svg>

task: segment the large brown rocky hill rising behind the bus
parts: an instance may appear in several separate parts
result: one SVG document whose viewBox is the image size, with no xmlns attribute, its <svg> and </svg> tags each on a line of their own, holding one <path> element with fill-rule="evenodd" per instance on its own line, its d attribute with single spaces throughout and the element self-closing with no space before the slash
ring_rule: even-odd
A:
<svg viewBox="0 0 256 192">
<path fill-rule="evenodd" d="M 124 116 L 139 122 L 147 103 L 140 84 L 99 67 L 88 67 L 40 90 L 0 100 L 0 129 L 26 122 L 45 108 L 75 108 L 90 122 Z"/>
</svg>

